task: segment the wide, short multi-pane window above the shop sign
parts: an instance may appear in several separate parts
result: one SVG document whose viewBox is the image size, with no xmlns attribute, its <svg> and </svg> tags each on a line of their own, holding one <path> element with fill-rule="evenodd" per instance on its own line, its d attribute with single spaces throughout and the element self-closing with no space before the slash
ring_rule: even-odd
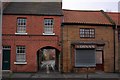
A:
<svg viewBox="0 0 120 80">
<path fill-rule="evenodd" d="M 81 38 L 94 38 L 95 37 L 95 29 L 80 28 L 80 37 Z"/>
</svg>

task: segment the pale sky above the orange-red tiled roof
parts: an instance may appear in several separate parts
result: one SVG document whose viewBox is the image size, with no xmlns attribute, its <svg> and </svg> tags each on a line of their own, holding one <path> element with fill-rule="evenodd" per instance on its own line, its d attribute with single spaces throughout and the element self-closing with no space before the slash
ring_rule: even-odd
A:
<svg viewBox="0 0 120 80">
<path fill-rule="evenodd" d="M 72 10 L 104 10 L 111 12 L 120 11 L 120 0 L 63 0 L 63 9 Z"/>
</svg>

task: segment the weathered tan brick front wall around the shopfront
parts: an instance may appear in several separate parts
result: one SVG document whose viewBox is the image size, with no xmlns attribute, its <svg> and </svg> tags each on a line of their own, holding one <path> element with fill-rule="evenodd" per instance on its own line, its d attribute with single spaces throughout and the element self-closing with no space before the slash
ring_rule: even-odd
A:
<svg viewBox="0 0 120 80">
<path fill-rule="evenodd" d="M 95 28 L 95 38 L 80 38 L 80 28 Z M 83 25 L 64 25 L 63 27 L 63 71 L 70 72 L 71 67 L 71 42 L 95 42 L 103 41 L 104 46 L 104 71 L 114 71 L 114 37 L 113 28 L 108 26 L 83 26 Z M 72 56 L 74 57 L 74 56 Z M 74 63 L 73 63 L 74 64 Z"/>
</svg>

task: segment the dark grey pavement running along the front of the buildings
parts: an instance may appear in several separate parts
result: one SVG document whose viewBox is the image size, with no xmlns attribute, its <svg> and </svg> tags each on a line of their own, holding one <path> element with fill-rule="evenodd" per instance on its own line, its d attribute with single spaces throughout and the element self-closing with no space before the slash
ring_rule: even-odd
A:
<svg viewBox="0 0 120 80">
<path fill-rule="evenodd" d="M 3 72 L 2 80 L 120 80 L 120 73 L 10 73 Z"/>
</svg>

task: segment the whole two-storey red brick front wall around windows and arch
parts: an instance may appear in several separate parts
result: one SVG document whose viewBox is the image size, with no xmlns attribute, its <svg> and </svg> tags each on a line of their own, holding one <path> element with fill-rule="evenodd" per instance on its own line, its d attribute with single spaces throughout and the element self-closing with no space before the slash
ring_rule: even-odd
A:
<svg viewBox="0 0 120 80">
<path fill-rule="evenodd" d="M 17 17 L 27 18 L 27 35 L 15 35 Z M 53 36 L 43 34 L 44 18 L 54 19 Z M 21 16 L 21 15 L 4 15 L 3 16 L 3 46 L 11 46 L 11 71 L 13 72 L 36 72 L 37 71 L 37 51 L 46 46 L 54 47 L 58 50 L 60 41 L 60 16 Z M 16 65 L 16 46 L 26 46 L 26 65 Z"/>
</svg>

